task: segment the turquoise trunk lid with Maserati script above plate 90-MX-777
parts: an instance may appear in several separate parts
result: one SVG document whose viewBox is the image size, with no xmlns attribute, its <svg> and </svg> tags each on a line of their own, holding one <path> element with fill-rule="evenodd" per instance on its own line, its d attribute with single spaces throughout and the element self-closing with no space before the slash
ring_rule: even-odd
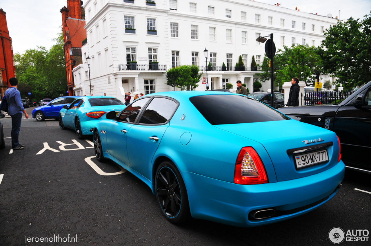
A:
<svg viewBox="0 0 371 246">
<path fill-rule="evenodd" d="M 296 120 L 214 126 L 261 143 L 272 160 L 277 181 L 313 175 L 338 163 L 339 150 L 336 134 L 321 127 Z M 314 139 L 315 142 L 313 142 Z M 318 141 L 318 139 L 320 140 Z M 302 153 L 317 151 L 309 149 L 325 143 L 329 143 L 329 146 L 320 147 L 318 150 L 326 149 L 329 161 L 300 169 L 296 168 L 294 156 L 298 154 L 298 151 L 302 152 L 303 149 L 306 151 Z M 296 151 L 295 154 L 294 151 Z"/>
</svg>

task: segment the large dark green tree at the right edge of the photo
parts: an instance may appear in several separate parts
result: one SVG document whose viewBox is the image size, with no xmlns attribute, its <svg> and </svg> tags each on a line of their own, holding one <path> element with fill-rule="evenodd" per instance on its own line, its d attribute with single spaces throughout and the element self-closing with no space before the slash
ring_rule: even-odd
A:
<svg viewBox="0 0 371 246">
<path fill-rule="evenodd" d="M 371 12 L 370 12 L 371 13 Z M 325 30 L 320 55 L 326 73 L 338 77 L 344 90 L 368 82 L 371 77 L 371 14 L 363 20 L 338 21 Z"/>
</svg>

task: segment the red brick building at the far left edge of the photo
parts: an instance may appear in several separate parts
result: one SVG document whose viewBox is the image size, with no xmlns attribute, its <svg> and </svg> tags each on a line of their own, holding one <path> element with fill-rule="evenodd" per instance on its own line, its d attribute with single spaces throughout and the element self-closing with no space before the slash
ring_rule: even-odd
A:
<svg viewBox="0 0 371 246">
<path fill-rule="evenodd" d="M 16 76 L 13 60 L 12 38 L 9 37 L 6 13 L 0 9 L 0 94 L 9 87 L 9 79 Z"/>
</svg>

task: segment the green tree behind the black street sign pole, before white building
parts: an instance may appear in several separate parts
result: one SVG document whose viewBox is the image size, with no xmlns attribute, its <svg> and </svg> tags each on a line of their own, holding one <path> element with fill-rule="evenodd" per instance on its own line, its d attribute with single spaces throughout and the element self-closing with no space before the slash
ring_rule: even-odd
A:
<svg viewBox="0 0 371 246">
<path fill-rule="evenodd" d="M 318 54 L 319 48 L 314 46 L 296 45 L 292 47 L 283 46 L 279 49 L 273 61 L 273 76 L 276 86 L 282 86 L 292 78 L 298 77 L 299 81 L 312 81 L 315 79 L 315 72 L 323 73 L 322 60 Z M 264 56 L 260 65 L 260 80 L 265 82 L 271 78 L 269 58 Z"/>
</svg>

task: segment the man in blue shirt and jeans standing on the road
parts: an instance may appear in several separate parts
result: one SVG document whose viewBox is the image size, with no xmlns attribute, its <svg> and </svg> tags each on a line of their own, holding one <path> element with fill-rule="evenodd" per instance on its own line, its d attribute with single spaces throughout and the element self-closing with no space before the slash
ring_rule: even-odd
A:
<svg viewBox="0 0 371 246">
<path fill-rule="evenodd" d="M 5 92 L 6 101 L 8 102 L 8 114 L 12 117 L 12 149 L 24 149 L 24 144 L 18 141 L 21 130 L 22 112 L 28 119 L 28 114 L 22 105 L 21 94 L 18 87 L 18 79 L 9 79 L 10 87 Z"/>
</svg>

